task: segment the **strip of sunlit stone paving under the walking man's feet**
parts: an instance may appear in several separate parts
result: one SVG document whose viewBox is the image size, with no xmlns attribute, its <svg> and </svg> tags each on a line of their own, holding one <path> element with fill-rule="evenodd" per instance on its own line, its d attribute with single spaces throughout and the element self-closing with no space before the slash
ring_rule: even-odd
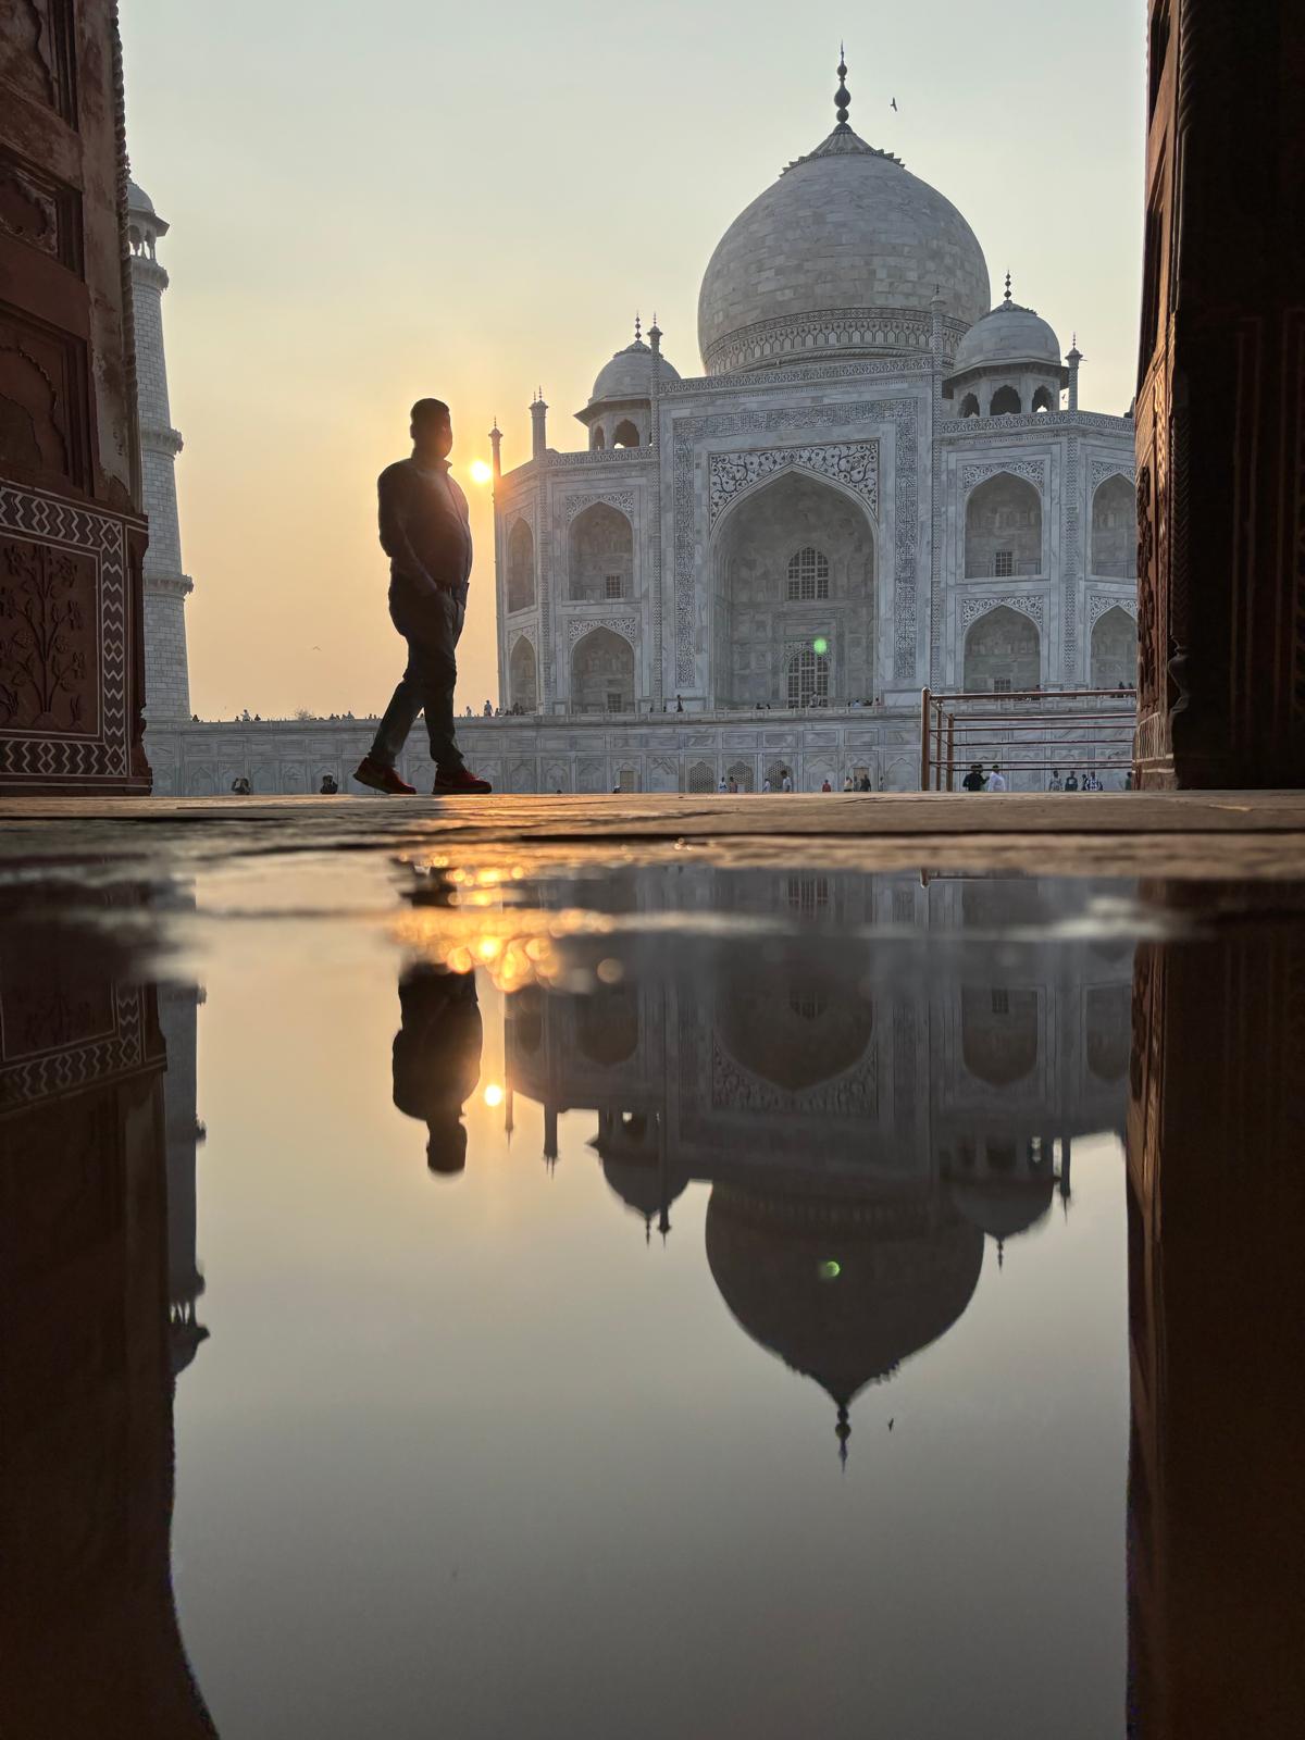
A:
<svg viewBox="0 0 1305 1740">
<path fill-rule="evenodd" d="M 1119 875 L 1305 875 L 1305 792 L 7 799 L 0 863 L 529 847 L 571 863 L 693 849 L 729 863 Z"/>
</svg>

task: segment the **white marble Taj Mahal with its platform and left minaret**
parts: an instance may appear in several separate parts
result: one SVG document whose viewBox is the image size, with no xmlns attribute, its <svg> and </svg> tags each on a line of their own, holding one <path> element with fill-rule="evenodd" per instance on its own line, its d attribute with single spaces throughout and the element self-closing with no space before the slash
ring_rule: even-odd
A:
<svg viewBox="0 0 1305 1740">
<path fill-rule="evenodd" d="M 599 369 L 583 444 L 550 445 L 543 393 L 520 465 L 491 430 L 505 717 L 459 740 L 501 790 L 760 790 L 781 769 L 908 790 L 924 687 L 1134 682 L 1133 418 L 1081 409 L 1077 343 L 1061 355 L 1009 275 L 994 304 L 974 231 L 853 130 L 846 80 L 833 130 L 706 264 L 701 374 L 654 317 Z M 139 188 L 130 223 L 155 790 L 348 788 L 364 720 L 190 717 L 167 224 Z M 400 771 L 430 783 L 418 734 Z"/>
</svg>

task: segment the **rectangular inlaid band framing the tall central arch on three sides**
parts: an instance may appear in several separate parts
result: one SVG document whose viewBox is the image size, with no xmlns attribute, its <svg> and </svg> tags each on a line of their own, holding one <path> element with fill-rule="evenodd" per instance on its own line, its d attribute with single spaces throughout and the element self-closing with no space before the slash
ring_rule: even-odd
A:
<svg viewBox="0 0 1305 1740">
<path fill-rule="evenodd" d="M 694 680 L 694 466 L 703 440 L 769 435 L 792 428 L 837 428 L 849 423 L 891 423 L 893 442 L 893 675 L 915 679 L 915 567 L 919 550 L 919 416 L 917 398 L 867 398 L 847 404 L 800 405 L 774 411 L 720 411 L 715 416 L 672 421 L 672 515 L 675 538 L 675 682 Z"/>
</svg>

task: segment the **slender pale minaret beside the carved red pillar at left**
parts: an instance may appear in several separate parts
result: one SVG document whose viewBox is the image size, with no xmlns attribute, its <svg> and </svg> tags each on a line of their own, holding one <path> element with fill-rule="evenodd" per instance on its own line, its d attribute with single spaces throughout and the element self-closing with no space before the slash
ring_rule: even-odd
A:
<svg viewBox="0 0 1305 1740">
<path fill-rule="evenodd" d="M 141 430 L 144 512 L 150 548 L 144 552 L 144 717 L 190 719 L 186 663 L 186 595 L 193 581 L 181 569 L 176 458 L 181 435 L 172 428 L 164 360 L 164 291 L 167 273 L 155 244 L 167 235 L 148 193 L 127 183 L 132 311 L 136 315 L 136 416 Z"/>
</svg>

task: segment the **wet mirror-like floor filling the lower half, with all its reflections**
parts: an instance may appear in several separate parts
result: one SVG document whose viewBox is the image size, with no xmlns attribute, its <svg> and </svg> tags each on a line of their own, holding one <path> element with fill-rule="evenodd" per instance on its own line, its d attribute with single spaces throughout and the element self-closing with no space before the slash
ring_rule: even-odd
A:
<svg viewBox="0 0 1305 1740">
<path fill-rule="evenodd" d="M 1291 886 L 0 886 L 0 1733 L 1225 1731 L 1171 1643 L 1218 1331 L 1195 1246 L 1155 1291 L 1152 1088 L 1256 950 L 1300 999 Z"/>
</svg>

